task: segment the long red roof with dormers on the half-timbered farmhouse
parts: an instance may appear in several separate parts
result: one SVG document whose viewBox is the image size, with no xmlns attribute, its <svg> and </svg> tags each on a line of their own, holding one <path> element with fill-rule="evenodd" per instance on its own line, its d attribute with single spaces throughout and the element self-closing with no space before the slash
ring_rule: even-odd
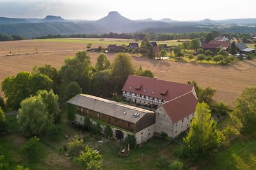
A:
<svg viewBox="0 0 256 170">
<path fill-rule="evenodd" d="M 138 88 L 140 87 L 140 88 Z M 123 91 L 170 101 L 191 92 L 193 85 L 129 75 Z"/>
</svg>

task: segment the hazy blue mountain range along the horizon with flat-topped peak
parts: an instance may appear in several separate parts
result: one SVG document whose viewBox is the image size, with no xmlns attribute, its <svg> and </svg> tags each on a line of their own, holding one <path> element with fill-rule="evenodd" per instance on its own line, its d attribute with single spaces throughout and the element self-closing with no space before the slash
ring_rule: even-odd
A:
<svg viewBox="0 0 256 170">
<path fill-rule="evenodd" d="M 237 25 L 244 25 L 238 27 Z M 45 36 L 47 34 L 102 34 L 107 32 L 256 32 L 256 18 L 229 20 L 204 19 L 200 21 L 181 22 L 163 18 L 153 20 L 130 20 L 117 11 L 110 11 L 99 20 L 65 20 L 60 16 L 48 15 L 45 18 L 6 18 L 0 17 L 0 33 L 17 34 L 26 38 Z"/>
</svg>

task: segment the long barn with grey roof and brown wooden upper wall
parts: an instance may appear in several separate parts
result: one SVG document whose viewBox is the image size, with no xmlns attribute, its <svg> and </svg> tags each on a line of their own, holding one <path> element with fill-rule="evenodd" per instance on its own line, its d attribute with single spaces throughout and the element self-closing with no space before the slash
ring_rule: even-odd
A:
<svg viewBox="0 0 256 170">
<path fill-rule="evenodd" d="M 85 116 L 95 122 L 104 122 L 111 126 L 116 139 L 123 140 L 128 134 L 134 134 L 136 142 L 143 143 L 154 136 L 154 111 L 84 94 L 77 94 L 67 103 L 68 107 L 75 108 L 74 116 L 78 124 L 84 124 Z"/>
</svg>

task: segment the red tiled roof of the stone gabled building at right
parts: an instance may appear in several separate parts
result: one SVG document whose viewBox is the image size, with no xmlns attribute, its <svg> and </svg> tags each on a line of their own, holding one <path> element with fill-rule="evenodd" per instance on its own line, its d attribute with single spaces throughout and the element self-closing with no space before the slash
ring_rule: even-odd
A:
<svg viewBox="0 0 256 170">
<path fill-rule="evenodd" d="M 172 101 L 162 104 L 164 110 L 171 118 L 172 122 L 178 122 L 182 118 L 188 117 L 195 112 L 196 104 L 198 103 L 196 97 L 192 92 L 177 97 Z"/>
</svg>

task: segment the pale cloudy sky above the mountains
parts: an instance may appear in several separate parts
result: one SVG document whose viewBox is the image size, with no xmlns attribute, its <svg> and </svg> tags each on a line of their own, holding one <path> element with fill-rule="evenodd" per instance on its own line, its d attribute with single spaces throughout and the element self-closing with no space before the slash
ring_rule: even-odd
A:
<svg viewBox="0 0 256 170">
<path fill-rule="evenodd" d="M 0 17 L 98 20 L 118 11 L 131 20 L 224 20 L 256 18 L 255 6 L 255 0 L 0 0 Z"/>
</svg>

